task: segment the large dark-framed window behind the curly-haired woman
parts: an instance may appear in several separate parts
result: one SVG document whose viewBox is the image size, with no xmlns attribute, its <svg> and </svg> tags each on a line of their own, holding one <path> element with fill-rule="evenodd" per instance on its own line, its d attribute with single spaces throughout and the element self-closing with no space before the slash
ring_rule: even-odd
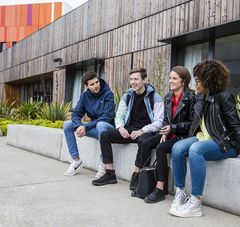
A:
<svg viewBox="0 0 240 227">
<path fill-rule="evenodd" d="M 204 59 L 214 58 L 222 61 L 230 70 L 229 90 L 234 94 L 240 92 L 240 34 L 221 38 L 210 37 L 209 42 L 189 46 L 178 46 L 176 64 L 183 64 L 191 73 L 193 67 Z M 194 88 L 194 80 L 190 87 Z"/>
</svg>

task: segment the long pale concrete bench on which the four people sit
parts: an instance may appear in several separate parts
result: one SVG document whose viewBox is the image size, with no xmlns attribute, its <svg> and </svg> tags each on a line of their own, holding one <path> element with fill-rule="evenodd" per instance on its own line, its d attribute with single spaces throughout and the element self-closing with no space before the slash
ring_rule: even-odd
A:
<svg viewBox="0 0 240 227">
<path fill-rule="evenodd" d="M 9 145 L 70 162 L 63 130 L 32 125 L 9 125 L 7 134 Z M 86 168 L 97 170 L 100 162 L 100 146 L 96 139 L 77 138 L 81 158 Z M 118 178 L 130 180 L 137 154 L 136 144 L 114 144 L 114 167 Z M 189 170 L 189 168 L 188 168 Z M 240 215 L 240 157 L 223 161 L 207 162 L 207 177 L 204 189 L 204 204 L 233 214 Z M 169 191 L 173 189 L 171 166 Z M 190 192 L 189 171 L 186 189 Z"/>
</svg>

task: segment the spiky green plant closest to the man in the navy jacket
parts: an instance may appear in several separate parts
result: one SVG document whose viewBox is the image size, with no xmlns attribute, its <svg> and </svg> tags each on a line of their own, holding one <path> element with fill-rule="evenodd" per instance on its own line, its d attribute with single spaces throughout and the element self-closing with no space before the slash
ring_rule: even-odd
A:
<svg viewBox="0 0 240 227">
<path fill-rule="evenodd" d="M 65 120 L 67 117 L 67 113 L 70 111 L 72 106 L 71 102 L 66 104 L 58 104 L 58 103 L 45 103 L 41 109 L 41 112 L 38 114 L 39 118 L 47 119 L 50 121 L 57 120 Z"/>
</svg>

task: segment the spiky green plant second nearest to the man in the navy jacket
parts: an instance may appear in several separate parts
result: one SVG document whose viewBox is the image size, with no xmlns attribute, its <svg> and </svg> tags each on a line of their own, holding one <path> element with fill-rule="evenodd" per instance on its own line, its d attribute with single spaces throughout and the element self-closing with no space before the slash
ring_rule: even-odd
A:
<svg viewBox="0 0 240 227">
<path fill-rule="evenodd" d="M 15 117 L 19 119 L 35 119 L 41 111 L 41 105 L 39 101 L 25 101 L 16 109 Z"/>
</svg>

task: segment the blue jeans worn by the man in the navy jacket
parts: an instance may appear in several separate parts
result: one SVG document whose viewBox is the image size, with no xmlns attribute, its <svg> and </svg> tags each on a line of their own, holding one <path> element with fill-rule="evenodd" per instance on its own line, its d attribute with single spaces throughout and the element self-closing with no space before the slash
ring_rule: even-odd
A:
<svg viewBox="0 0 240 227">
<path fill-rule="evenodd" d="M 113 125 L 107 122 L 98 122 L 96 128 L 93 128 L 86 132 L 86 136 L 98 139 L 102 132 L 115 129 Z M 75 130 L 73 128 L 73 123 L 71 120 L 66 121 L 63 126 L 65 138 L 67 141 L 68 151 L 72 157 L 72 159 L 79 158 L 79 150 L 77 147 L 77 141 L 75 137 Z"/>
</svg>

